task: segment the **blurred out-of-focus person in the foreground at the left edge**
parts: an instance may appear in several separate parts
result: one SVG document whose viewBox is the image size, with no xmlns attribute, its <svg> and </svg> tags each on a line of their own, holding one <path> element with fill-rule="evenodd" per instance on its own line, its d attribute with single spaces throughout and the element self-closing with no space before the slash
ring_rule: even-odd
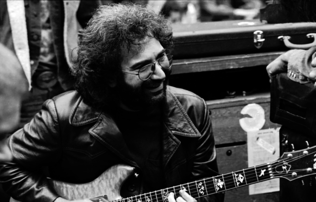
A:
<svg viewBox="0 0 316 202">
<path fill-rule="evenodd" d="M 18 124 L 22 98 L 27 92 L 26 83 L 18 59 L 0 44 L 0 161 L 12 158 L 6 145 L 7 133 Z"/>
</svg>

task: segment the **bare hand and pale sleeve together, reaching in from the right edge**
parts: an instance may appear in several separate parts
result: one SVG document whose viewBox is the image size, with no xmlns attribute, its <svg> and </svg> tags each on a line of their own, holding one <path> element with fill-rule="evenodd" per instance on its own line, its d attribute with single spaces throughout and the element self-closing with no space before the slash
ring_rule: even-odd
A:
<svg viewBox="0 0 316 202">
<path fill-rule="evenodd" d="M 270 78 L 280 72 L 288 72 L 291 80 L 307 83 L 316 80 L 316 46 L 309 50 L 290 50 L 267 66 Z"/>
</svg>

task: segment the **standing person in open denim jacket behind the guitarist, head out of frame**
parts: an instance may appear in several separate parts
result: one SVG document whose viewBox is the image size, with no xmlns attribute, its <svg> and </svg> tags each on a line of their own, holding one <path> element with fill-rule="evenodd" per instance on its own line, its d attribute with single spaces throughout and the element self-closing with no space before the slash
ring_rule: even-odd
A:
<svg viewBox="0 0 316 202">
<path fill-rule="evenodd" d="M 16 54 L 32 86 L 22 103 L 18 128 L 46 99 L 73 89 L 71 51 L 78 45 L 79 29 L 99 5 L 98 0 L 0 1 L 0 43 Z"/>
</svg>

